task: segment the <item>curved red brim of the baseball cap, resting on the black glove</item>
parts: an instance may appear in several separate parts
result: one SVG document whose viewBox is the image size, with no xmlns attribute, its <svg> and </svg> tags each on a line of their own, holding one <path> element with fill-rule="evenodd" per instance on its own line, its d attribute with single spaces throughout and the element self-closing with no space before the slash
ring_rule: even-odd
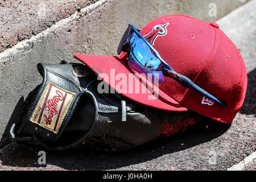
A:
<svg viewBox="0 0 256 182">
<path fill-rule="evenodd" d="M 118 79 L 105 79 L 104 81 L 109 84 L 111 88 L 113 88 L 117 93 L 122 94 L 123 96 L 129 98 L 130 100 L 133 100 L 135 102 L 138 102 L 140 104 L 154 107 L 156 109 L 162 109 L 162 110 L 169 110 L 169 111 L 187 111 L 188 109 L 184 107 L 183 105 L 180 105 L 179 102 L 175 101 L 173 98 L 168 96 L 166 93 L 164 93 L 160 89 L 154 89 L 154 92 L 152 90 L 148 90 L 148 85 L 143 83 L 142 77 L 137 77 L 134 75 L 134 72 L 131 71 L 131 69 L 127 66 L 127 63 L 125 60 L 121 59 L 119 56 L 106 56 L 106 55 L 79 55 L 75 54 L 74 57 L 78 60 L 80 60 L 82 63 L 84 63 L 86 66 L 88 66 L 96 75 L 98 75 L 100 78 L 104 78 L 103 75 L 108 75 L 109 77 L 113 76 L 114 71 L 114 77 L 121 73 L 122 75 L 125 75 L 126 78 L 129 78 L 130 80 L 133 79 L 139 79 L 138 84 L 136 85 L 136 88 L 133 88 L 138 91 L 139 90 L 146 90 L 147 92 L 129 92 L 129 79 L 123 79 L 123 81 L 126 81 L 127 89 L 123 89 L 118 85 L 118 82 L 120 80 Z M 114 80 L 114 81 L 113 81 Z M 134 85 L 132 85 L 134 87 Z M 125 90 L 125 91 L 124 91 Z M 157 92 L 157 94 L 155 93 Z M 155 98 L 154 98 L 155 97 Z M 152 99 L 154 98 L 154 99 Z"/>
</svg>

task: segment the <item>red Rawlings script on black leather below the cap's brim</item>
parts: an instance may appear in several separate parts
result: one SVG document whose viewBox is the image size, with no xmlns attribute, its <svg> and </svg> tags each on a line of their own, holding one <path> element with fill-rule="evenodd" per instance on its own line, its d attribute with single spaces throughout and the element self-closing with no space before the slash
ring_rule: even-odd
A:
<svg viewBox="0 0 256 182">
<path fill-rule="evenodd" d="M 178 134 L 181 129 L 182 133 L 187 129 L 188 125 L 193 125 L 195 123 L 196 121 L 194 118 L 182 119 L 181 117 L 179 117 L 177 122 L 175 123 L 168 123 L 168 121 L 166 120 L 160 127 L 160 130 L 158 131 L 158 136 L 161 134 L 166 135 L 166 137 L 174 136 Z"/>
</svg>

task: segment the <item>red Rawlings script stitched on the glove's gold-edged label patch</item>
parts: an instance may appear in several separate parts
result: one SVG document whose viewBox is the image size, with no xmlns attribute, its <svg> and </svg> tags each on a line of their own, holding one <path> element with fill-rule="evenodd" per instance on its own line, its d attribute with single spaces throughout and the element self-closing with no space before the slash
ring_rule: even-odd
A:
<svg viewBox="0 0 256 182">
<path fill-rule="evenodd" d="M 59 90 L 56 90 L 56 94 L 57 96 L 53 96 L 52 99 L 48 100 L 46 103 L 45 110 L 48 111 L 48 115 L 44 114 L 46 125 L 51 125 L 53 115 L 59 114 L 59 111 L 57 111 L 57 106 L 59 101 L 63 101 L 64 97 Z"/>
</svg>

